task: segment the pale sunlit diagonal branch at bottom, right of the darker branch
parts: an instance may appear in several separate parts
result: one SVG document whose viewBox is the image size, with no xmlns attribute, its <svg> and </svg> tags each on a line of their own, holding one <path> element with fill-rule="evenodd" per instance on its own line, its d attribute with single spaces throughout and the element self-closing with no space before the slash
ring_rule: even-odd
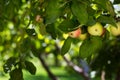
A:
<svg viewBox="0 0 120 80">
<path fill-rule="evenodd" d="M 82 75 L 85 80 L 90 80 L 89 75 L 86 72 L 84 72 L 84 70 L 82 68 L 80 68 L 79 66 L 75 65 L 73 62 L 69 61 L 65 56 L 63 58 L 66 61 L 66 63 L 70 67 L 72 67 L 77 73 Z"/>
</svg>

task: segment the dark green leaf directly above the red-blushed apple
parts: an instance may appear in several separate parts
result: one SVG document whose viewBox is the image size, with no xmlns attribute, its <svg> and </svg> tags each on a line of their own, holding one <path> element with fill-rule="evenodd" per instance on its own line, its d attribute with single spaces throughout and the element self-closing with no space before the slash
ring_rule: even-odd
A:
<svg viewBox="0 0 120 80">
<path fill-rule="evenodd" d="M 76 27 L 78 26 L 77 21 L 73 21 L 73 20 L 64 20 L 59 26 L 58 28 L 65 32 L 68 33 L 72 30 L 74 30 Z"/>
</svg>

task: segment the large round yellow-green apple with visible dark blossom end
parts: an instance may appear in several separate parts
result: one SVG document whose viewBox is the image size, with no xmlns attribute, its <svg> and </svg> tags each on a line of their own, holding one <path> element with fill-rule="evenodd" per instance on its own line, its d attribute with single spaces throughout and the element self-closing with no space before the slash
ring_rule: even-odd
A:
<svg viewBox="0 0 120 80">
<path fill-rule="evenodd" d="M 88 33 L 93 36 L 101 36 L 104 32 L 103 26 L 99 22 L 97 22 L 92 26 L 88 26 L 87 30 L 88 30 Z"/>
</svg>

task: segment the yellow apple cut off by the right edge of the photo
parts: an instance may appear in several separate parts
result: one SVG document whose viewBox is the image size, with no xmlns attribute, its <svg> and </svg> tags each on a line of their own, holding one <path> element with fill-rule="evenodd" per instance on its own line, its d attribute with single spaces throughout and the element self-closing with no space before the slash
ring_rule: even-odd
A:
<svg viewBox="0 0 120 80">
<path fill-rule="evenodd" d="M 120 35 L 120 22 L 117 22 L 116 25 L 117 25 L 117 27 L 110 25 L 110 32 L 113 36 Z"/>
</svg>

